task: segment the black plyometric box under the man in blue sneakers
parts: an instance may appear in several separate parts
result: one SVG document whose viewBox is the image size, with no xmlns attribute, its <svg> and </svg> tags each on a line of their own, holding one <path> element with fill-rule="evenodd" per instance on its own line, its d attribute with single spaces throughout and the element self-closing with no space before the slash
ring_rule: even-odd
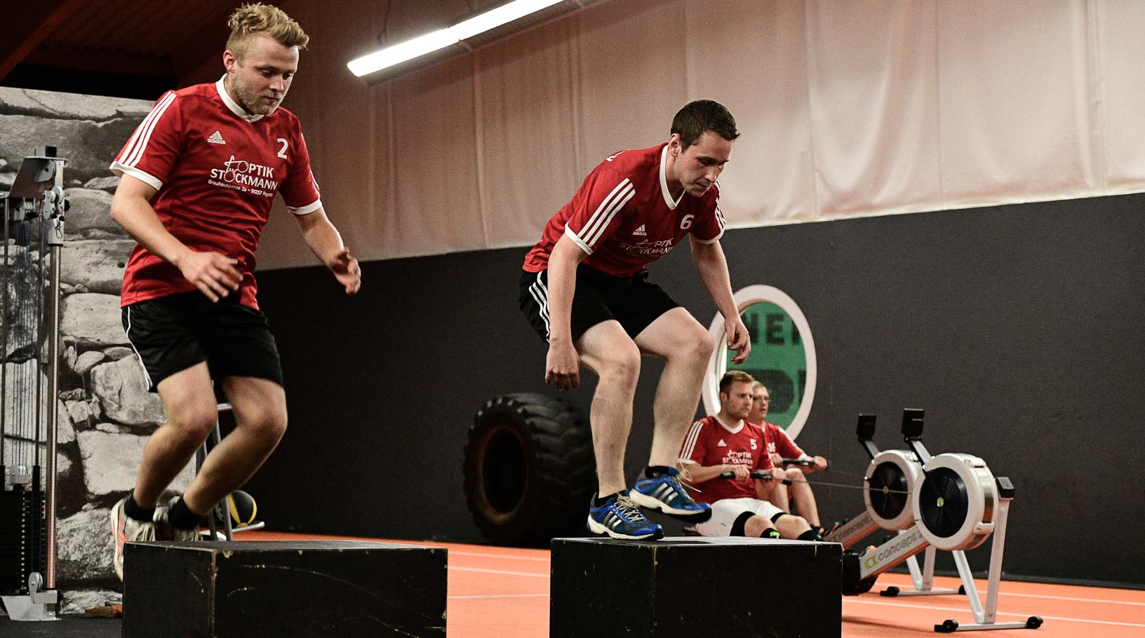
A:
<svg viewBox="0 0 1145 638">
<path fill-rule="evenodd" d="M 553 539 L 550 638 L 840 636 L 843 545 Z"/>
</svg>

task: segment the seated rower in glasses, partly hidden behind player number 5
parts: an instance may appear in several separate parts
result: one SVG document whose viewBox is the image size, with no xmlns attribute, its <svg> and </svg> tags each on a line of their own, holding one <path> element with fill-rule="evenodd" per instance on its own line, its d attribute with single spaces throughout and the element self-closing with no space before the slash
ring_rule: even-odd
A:
<svg viewBox="0 0 1145 638">
<path fill-rule="evenodd" d="M 763 430 L 766 452 L 772 460 L 772 465 L 779 470 L 781 478 L 787 478 L 791 485 L 789 487 L 780 481 L 761 481 L 760 499 L 769 501 L 787 513 L 791 513 L 791 502 L 795 501 L 796 511 L 807 519 L 811 528 L 821 536 L 827 535 L 827 531 L 819 524 L 819 507 L 815 505 L 815 495 L 811 492 L 811 484 L 804 478 L 804 474 L 826 470 L 827 458 L 808 456 L 788 437 L 783 428 L 764 421 L 771 401 L 772 396 L 767 392 L 767 388 L 756 381 L 751 389 L 751 413 L 748 414 L 748 422 L 758 424 Z M 797 463 L 782 469 L 784 460 Z"/>
</svg>

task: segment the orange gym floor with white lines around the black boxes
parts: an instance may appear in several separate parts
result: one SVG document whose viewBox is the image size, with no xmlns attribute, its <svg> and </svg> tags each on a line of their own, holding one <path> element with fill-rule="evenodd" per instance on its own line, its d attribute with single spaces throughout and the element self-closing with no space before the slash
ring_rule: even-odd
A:
<svg viewBox="0 0 1145 638">
<path fill-rule="evenodd" d="M 252 531 L 236 536 L 248 541 L 361 540 L 350 536 L 283 534 Z M 447 629 L 466 638 L 547 638 L 548 551 L 393 541 L 449 548 L 449 600 Z M 953 577 L 935 577 L 937 588 L 957 588 Z M 884 598 L 889 585 L 910 588 L 907 574 L 883 574 L 869 593 L 843 599 L 844 638 L 919 636 L 934 633 L 947 619 L 973 623 L 973 614 L 961 595 Z M 977 581 L 986 596 L 986 581 Z M 1037 630 L 992 630 L 984 636 L 1003 638 L 1145 638 L 1145 591 L 1003 581 L 998 596 L 998 622 L 1041 616 Z"/>
</svg>

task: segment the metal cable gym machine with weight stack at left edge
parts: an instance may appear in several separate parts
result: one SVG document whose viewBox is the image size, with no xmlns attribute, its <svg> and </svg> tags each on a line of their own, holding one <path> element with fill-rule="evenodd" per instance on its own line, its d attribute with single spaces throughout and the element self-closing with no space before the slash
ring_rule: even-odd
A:
<svg viewBox="0 0 1145 638">
<path fill-rule="evenodd" d="M 68 161 L 55 157 L 54 146 L 40 146 L 33 154 L 24 158 L 8 192 L 0 192 L 3 200 L 3 309 L 11 308 L 8 289 L 13 280 L 15 262 L 9 256 L 10 223 L 21 222 L 17 229 L 24 229 L 18 241 L 26 240 L 24 256 L 31 264 L 32 223 L 39 221 L 39 268 L 27 269 L 27 285 L 33 300 L 17 300 L 34 303 L 34 325 L 29 344 L 30 349 L 21 349 L 21 356 L 27 354 L 35 361 L 34 369 L 34 406 L 25 421 L 31 421 L 34 429 L 31 440 L 18 440 L 21 437 L 9 437 L 6 416 L 9 404 L 27 402 L 27 397 L 8 396 L 8 333 L 7 322 L 0 329 L 0 529 L 5 533 L 6 543 L 0 545 L 0 599 L 11 620 L 49 621 L 56 617 L 60 592 L 56 587 L 56 423 L 57 397 L 60 394 L 60 256 L 64 239 L 64 210 L 66 200 L 63 191 L 63 166 Z M 24 226 L 24 222 L 29 222 Z M 45 257 L 50 255 L 47 285 L 45 285 Z M 33 270 L 37 272 L 33 277 Z M 47 348 L 47 361 L 44 349 Z M 26 350 L 26 351 L 25 351 Z M 13 352 L 15 354 L 16 351 Z M 42 370 L 47 364 L 47 394 L 44 393 Z M 24 388 L 23 377 L 11 385 L 14 393 L 32 392 Z M 19 388 L 16 388 L 19 385 Z M 41 407 L 46 409 L 41 409 Z M 13 409 L 16 413 L 16 409 Z M 23 423 L 19 424 L 23 426 Z M 40 433 L 46 432 L 46 441 L 41 444 Z M 31 445 L 31 465 L 21 464 L 7 466 L 3 440 L 10 440 L 15 452 L 18 445 Z M 44 461 L 40 461 L 40 453 Z M 41 466 L 44 472 L 41 476 Z M 8 540 L 15 542 L 8 542 Z M 14 574 L 15 573 L 15 574 Z"/>
</svg>

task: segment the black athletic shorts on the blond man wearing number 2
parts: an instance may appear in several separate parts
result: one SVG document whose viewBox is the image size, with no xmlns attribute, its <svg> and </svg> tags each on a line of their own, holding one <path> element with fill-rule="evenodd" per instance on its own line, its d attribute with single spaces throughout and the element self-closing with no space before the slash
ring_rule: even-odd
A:
<svg viewBox="0 0 1145 638">
<path fill-rule="evenodd" d="M 232 293 L 212 302 L 191 290 L 133 303 L 121 310 L 124 330 L 151 391 L 168 376 L 207 362 L 211 378 L 254 376 L 283 384 L 270 322 Z"/>
</svg>

